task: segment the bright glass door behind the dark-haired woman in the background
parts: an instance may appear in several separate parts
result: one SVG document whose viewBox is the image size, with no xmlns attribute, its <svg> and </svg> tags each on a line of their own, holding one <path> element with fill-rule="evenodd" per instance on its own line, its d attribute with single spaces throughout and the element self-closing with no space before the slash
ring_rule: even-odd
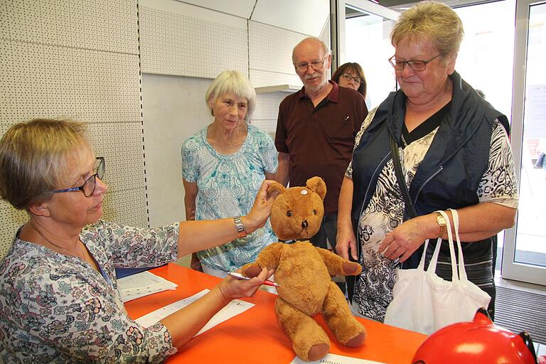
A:
<svg viewBox="0 0 546 364">
<path fill-rule="evenodd" d="M 366 104 L 372 109 L 396 90 L 388 59 L 395 53 L 390 31 L 400 13 L 368 0 L 346 0 L 336 1 L 336 15 L 333 71 L 346 62 L 359 63 L 367 83 Z"/>
</svg>

